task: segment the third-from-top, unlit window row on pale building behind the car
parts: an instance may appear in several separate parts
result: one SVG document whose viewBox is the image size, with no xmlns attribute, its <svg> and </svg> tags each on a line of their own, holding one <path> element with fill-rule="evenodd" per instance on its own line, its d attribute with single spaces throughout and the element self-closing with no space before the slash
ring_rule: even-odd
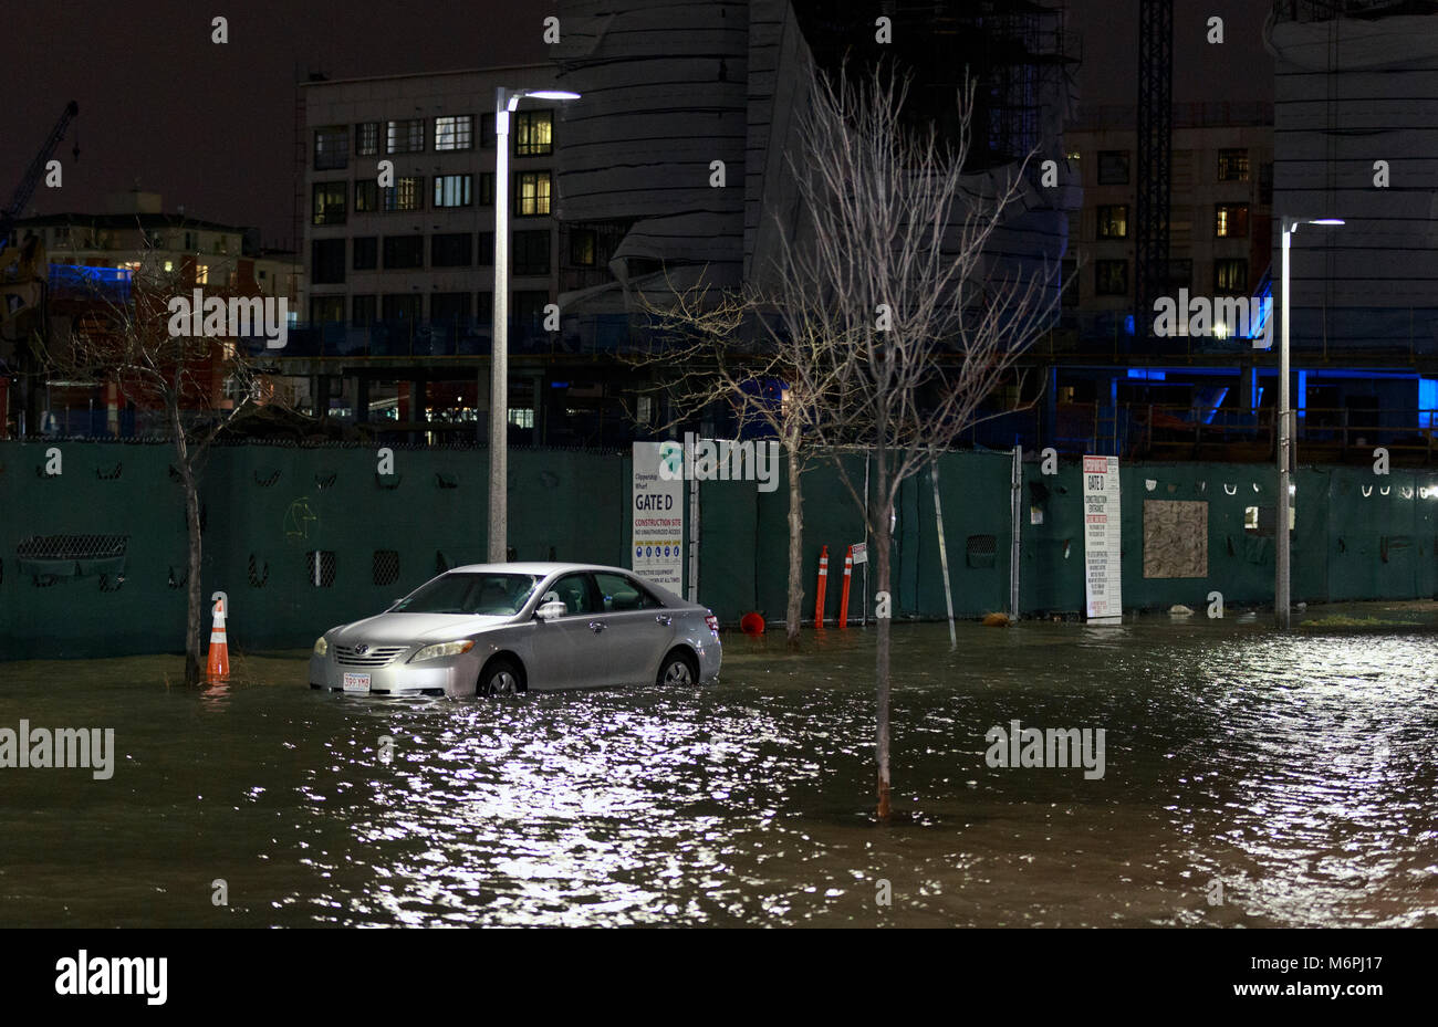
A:
<svg viewBox="0 0 1438 1027">
<path fill-rule="evenodd" d="M 426 264 L 429 238 L 429 264 Z M 509 234 L 509 273 L 516 276 L 549 273 L 548 230 Z M 311 282 L 319 286 L 344 284 L 345 244 L 349 244 L 351 270 L 395 271 L 429 267 L 493 267 L 495 233 L 479 233 L 479 244 L 469 231 L 433 236 L 355 236 L 354 238 L 316 238 L 311 243 Z M 383 264 L 381 264 L 383 259 Z"/>
</svg>

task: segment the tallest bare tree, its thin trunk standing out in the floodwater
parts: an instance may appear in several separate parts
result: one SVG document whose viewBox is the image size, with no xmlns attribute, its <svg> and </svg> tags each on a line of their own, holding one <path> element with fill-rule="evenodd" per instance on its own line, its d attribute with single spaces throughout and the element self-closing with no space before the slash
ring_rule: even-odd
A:
<svg viewBox="0 0 1438 1027">
<path fill-rule="evenodd" d="M 784 236 L 777 310 L 792 338 L 824 339 L 810 382 L 814 444 L 873 454 L 867 496 L 835 464 L 874 539 L 879 817 L 890 816 L 890 543 L 900 485 L 952 448 L 1051 320 L 1047 261 L 991 253 L 1025 195 L 1028 159 L 966 175 L 974 86 L 958 138 L 902 119 L 907 85 L 815 73 L 789 167 L 805 227 Z M 997 247 L 995 247 L 997 248 Z M 1041 264 L 1041 266 L 1040 266 Z"/>
</svg>

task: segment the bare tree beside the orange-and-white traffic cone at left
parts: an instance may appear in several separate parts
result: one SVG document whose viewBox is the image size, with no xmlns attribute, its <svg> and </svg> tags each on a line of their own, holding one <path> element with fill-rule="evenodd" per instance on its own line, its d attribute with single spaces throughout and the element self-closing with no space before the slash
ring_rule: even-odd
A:
<svg viewBox="0 0 1438 1027">
<path fill-rule="evenodd" d="M 211 266 L 211 274 L 217 269 Z M 128 292 L 128 294 L 127 294 Z M 206 289 L 221 300 L 233 289 Z M 210 445 L 239 418 L 275 402 L 270 382 L 242 346 L 244 340 L 203 332 L 174 332 L 177 297 L 193 296 L 180 270 L 161 271 L 155 254 L 139 254 L 128 290 L 92 283 L 66 306 L 72 310 L 68 349 L 50 353 L 52 366 L 96 382 L 114 382 L 128 401 L 155 409 L 174 442 L 174 471 L 184 497 L 186 560 L 186 684 L 203 678 L 200 477 Z"/>
</svg>

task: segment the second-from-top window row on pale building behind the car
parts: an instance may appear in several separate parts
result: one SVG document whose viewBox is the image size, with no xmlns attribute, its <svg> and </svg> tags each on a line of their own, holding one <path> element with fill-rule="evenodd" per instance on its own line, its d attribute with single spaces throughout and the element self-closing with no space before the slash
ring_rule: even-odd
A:
<svg viewBox="0 0 1438 1027">
<path fill-rule="evenodd" d="M 549 214 L 552 182 L 548 171 L 522 171 L 513 177 L 510 213 L 515 217 L 544 217 Z M 476 201 L 475 175 L 434 175 L 429 191 L 430 210 L 473 207 Z M 355 214 L 424 210 L 424 175 L 395 178 L 394 185 L 381 187 L 372 178 L 354 182 Z M 479 174 L 479 205 L 495 205 L 495 172 Z M 315 182 L 311 188 L 311 223 L 319 226 L 344 224 L 348 217 L 349 182 Z"/>
</svg>

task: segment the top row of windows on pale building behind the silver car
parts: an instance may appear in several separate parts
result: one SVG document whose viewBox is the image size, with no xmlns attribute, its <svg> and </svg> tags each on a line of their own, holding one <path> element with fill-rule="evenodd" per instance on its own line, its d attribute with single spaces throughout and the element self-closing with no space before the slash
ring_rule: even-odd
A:
<svg viewBox="0 0 1438 1027">
<path fill-rule="evenodd" d="M 325 125 L 313 131 L 315 171 L 344 171 L 349 167 L 349 125 Z M 554 152 L 554 111 L 518 111 L 509 116 L 509 138 L 515 157 L 548 157 Z M 475 148 L 475 115 L 365 121 L 352 126 L 354 154 L 436 154 Z M 479 145 L 495 145 L 495 115 L 479 121 Z M 381 149 L 383 148 L 383 149 Z"/>
</svg>

